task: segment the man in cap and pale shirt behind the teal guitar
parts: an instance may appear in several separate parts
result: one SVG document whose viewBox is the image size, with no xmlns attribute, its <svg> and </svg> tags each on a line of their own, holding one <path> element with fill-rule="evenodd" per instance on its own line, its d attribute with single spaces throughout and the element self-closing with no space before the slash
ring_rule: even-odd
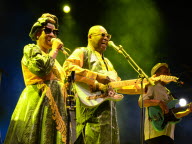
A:
<svg viewBox="0 0 192 144">
<path fill-rule="evenodd" d="M 170 69 L 166 63 L 158 63 L 156 64 L 151 70 L 152 78 L 156 79 L 159 77 L 173 77 L 170 76 Z M 173 79 L 176 82 L 176 79 Z M 170 81 L 169 81 L 170 82 Z M 164 114 L 169 113 L 168 103 L 173 101 L 174 98 L 171 95 L 171 92 L 165 87 L 166 84 L 169 82 L 166 81 L 156 81 L 154 86 L 149 85 L 146 89 L 146 93 L 139 98 L 139 106 L 146 108 L 145 111 L 145 124 L 144 124 L 144 135 L 145 135 L 145 142 L 146 144 L 174 144 L 174 129 L 175 123 L 165 123 L 163 121 L 160 128 L 157 129 L 155 124 L 164 117 L 161 117 Z M 150 114 L 150 108 L 159 108 L 160 112 L 157 113 L 154 117 Z M 175 119 L 179 119 L 184 117 L 192 112 L 192 105 L 182 111 L 173 114 Z M 160 116 L 160 117 L 159 117 Z"/>
</svg>

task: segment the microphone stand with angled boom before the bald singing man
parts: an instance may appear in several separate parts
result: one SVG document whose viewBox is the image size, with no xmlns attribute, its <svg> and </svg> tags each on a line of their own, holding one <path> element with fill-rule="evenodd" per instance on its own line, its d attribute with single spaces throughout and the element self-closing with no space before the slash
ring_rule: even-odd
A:
<svg viewBox="0 0 192 144">
<path fill-rule="evenodd" d="M 115 47 L 115 50 L 122 54 L 129 62 L 129 64 L 133 67 L 133 69 L 139 73 L 139 78 L 141 78 L 141 98 L 142 98 L 142 106 L 141 106 L 141 121 L 140 121 L 140 141 L 141 144 L 144 144 L 144 108 L 143 108 L 143 79 L 146 78 L 147 81 L 154 85 L 154 82 L 149 79 L 149 77 L 145 74 L 145 72 L 135 63 L 135 61 L 130 57 L 130 55 L 123 49 L 121 45 Z"/>
</svg>

